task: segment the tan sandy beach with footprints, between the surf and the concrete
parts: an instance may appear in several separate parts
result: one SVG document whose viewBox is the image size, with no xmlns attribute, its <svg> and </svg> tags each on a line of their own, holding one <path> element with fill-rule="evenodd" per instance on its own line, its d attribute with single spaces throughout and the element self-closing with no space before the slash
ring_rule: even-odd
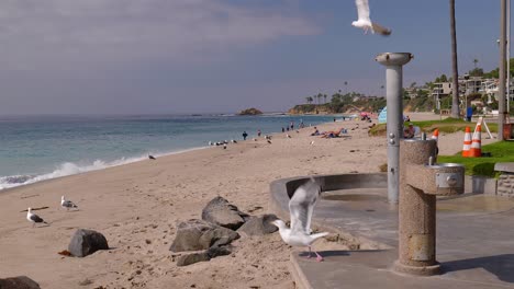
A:
<svg viewBox="0 0 514 289">
<path fill-rule="evenodd" d="M 200 219 L 215 196 L 252 215 L 265 213 L 269 183 L 277 178 L 379 172 L 387 144 L 383 137 L 368 137 L 369 125 L 319 126 L 321 131 L 345 127 L 347 138 L 311 137 L 313 128 L 304 128 L 292 138 L 278 134 L 271 144 L 259 138 L 226 150 L 213 147 L 2 192 L 0 278 L 26 275 L 42 288 L 294 288 L 291 248 L 278 233 L 242 236 L 232 255 L 177 267 L 179 254 L 168 251 L 177 224 Z M 440 153 L 460 151 L 462 139 L 462 134 L 439 136 Z M 80 210 L 60 209 L 62 195 Z M 43 206 L 49 208 L 36 213 L 51 226 L 32 228 L 22 210 Z M 103 233 L 111 250 L 85 258 L 58 255 L 78 228 Z"/>
</svg>

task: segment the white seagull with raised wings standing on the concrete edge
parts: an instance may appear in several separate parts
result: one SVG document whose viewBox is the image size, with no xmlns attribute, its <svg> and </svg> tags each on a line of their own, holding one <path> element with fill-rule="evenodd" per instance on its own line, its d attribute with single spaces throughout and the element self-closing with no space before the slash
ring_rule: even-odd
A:
<svg viewBox="0 0 514 289">
<path fill-rule="evenodd" d="M 314 181 L 313 177 L 305 184 L 301 185 L 294 192 L 293 196 L 289 200 L 289 213 L 291 218 L 291 229 L 286 227 L 282 220 L 275 220 L 271 223 L 277 226 L 279 229 L 280 236 L 283 242 L 291 246 L 308 246 L 309 258 L 312 255 L 311 245 L 317 239 L 327 235 L 327 232 L 311 234 L 311 219 L 312 211 L 316 205 L 317 198 L 320 197 L 321 186 Z M 316 254 L 316 261 L 323 261 L 323 257 Z"/>
</svg>

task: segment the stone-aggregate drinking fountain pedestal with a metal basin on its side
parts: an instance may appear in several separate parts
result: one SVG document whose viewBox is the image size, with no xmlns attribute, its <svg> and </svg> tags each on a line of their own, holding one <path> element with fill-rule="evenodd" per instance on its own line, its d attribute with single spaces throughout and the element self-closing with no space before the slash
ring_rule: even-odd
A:
<svg viewBox="0 0 514 289">
<path fill-rule="evenodd" d="M 400 141 L 400 204 L 396 271 L 429 276 L 436 261 L 436 196 L 463 193 L 465 167 L 436 161 L 435 139 Z"/>
</svg>

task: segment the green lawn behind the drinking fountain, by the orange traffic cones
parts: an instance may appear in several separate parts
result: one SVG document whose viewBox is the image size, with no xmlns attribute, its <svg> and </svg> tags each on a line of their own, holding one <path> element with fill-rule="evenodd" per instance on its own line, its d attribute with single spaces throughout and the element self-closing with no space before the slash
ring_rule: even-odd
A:
<svg viewBox="0 0 514 289">
<path fill-rule="evenodd" d="M 490 152 L 491 157 L 462 158 L 461 153 L 459 152 L 455 155 L 439 155 L 437 157 L 437 162 L 461 163 L 466 166 L 467 175 L 483 175 L 490 177 L 496 175 L 496 172 L 494 172 L 495 163 L 514 162 L 514 142 L 512 141 L 499 141 L 482 146 L 482 153 L 484 152 Z"/>
</svg>

